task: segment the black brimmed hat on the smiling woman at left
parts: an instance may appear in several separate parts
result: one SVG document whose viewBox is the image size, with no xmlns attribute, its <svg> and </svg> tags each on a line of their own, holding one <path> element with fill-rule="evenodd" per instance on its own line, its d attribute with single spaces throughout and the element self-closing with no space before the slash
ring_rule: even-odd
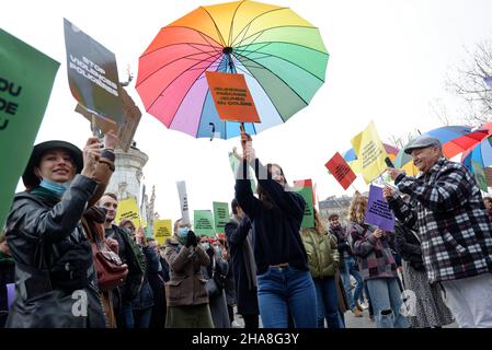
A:
<svg viewBox="0 0 492 350">
<path fill-rule="evenodd" d="M 22 180 L 26 188 L 35 188 L 39 186 L 39 178 L 34 174 L 34 167 L 39 165 L 41 158 L 49 150 L 60 149 L 67 151 L 73 163 L 77 166 L 76 173 L 79 174 L 83 167 L 83 155 L 82 151 L 77 147 L 66 141 L 46 141 L 36 144 L 31 153 L 30 161 L 25 167 L 24 174 L 22 175 Z"/>
</svg>

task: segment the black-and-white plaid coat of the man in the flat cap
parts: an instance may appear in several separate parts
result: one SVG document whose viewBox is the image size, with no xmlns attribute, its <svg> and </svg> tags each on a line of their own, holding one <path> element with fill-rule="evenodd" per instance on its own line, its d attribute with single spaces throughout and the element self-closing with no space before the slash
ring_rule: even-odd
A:
<svg viewBox="0 0 492 350">
<path fill-rule="evenodd" d="M 390 199 L 397 218 L 419 229 L 431 283 L 492 271 L 492 225 L 465 166 L 442 158 L 420 177 L 402 174 L 394 183 L 416 202 L 412 210 L 397 195 Z"/>
</svg>

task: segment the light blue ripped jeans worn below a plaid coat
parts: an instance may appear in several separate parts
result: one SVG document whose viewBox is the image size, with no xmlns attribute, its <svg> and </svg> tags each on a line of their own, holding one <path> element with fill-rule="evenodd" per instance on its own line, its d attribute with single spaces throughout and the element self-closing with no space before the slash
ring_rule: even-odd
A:
<svg viewBox="0 0 492 350">
<path fill-rule="evenodd" d="M 378 328 L 408 328 L 409 322 L 400 314 L 402 302 L 397 278 L 366 280 Z"/>
</svg>

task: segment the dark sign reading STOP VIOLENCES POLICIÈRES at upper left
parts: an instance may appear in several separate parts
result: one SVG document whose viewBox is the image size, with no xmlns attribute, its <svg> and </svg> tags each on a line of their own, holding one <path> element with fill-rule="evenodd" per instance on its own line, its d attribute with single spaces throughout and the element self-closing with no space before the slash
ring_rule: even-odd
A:
<svg viewBox="0 0 492 350">
<path fill-rule="evenodd" d="M 123 106 L 116 57 L 67 19 L 64 27 L 71 94 L 89 112 L 121 125 Z"/>
</svg>

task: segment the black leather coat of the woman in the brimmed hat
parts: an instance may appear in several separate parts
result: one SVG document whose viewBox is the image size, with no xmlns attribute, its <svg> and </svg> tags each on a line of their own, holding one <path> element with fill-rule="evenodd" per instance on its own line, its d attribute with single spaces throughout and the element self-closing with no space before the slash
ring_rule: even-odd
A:
<svg viewBox="0 0 492 350">
<path fill-rule="evenodd" d="M 77 175 L 61 200 L 15 196 L 7 221 L 15 260 L 15 299 L 7 327 L 106 326 L 91 244 L 80 222 L 95 187 L 94 180 Z"/>
</svg>

